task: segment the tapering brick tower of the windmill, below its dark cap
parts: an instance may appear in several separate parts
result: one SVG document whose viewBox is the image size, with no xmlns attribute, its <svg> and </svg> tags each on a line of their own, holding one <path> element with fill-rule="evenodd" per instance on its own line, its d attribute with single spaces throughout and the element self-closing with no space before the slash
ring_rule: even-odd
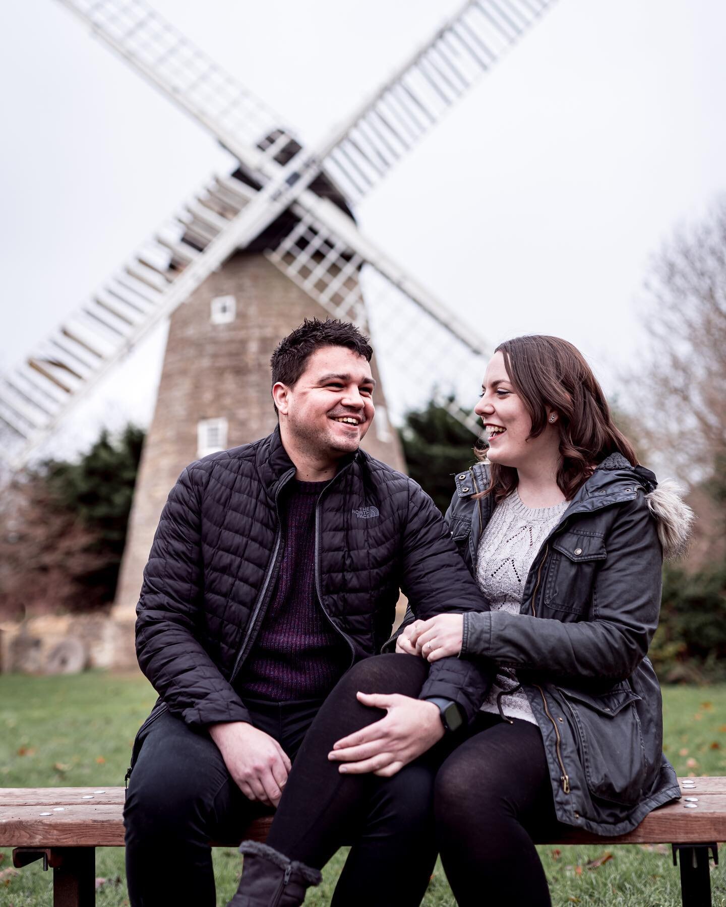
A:
<svg viewBox="0 0 726 907">
<path fill-rule="evenodd" d="M 134 609 L 172 485 L 199 456 L 270 434 L 276 424 L 270 355 L 306 317 L 328 315 L 259 251 L 228 259 L 173 313 L 113 607 L 115 667 L 136 666 Z M 375 362 L 373 372 L 378 379 Z M 376 418 L 363 446 L 405 469 L 379 381 Z"/>
</svg>

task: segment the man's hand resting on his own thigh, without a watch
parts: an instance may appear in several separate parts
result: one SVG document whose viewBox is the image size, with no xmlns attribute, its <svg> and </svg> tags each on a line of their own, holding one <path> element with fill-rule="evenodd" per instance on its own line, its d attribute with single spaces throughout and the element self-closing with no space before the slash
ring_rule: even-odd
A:
<svg viewBox="0 0 726 907">
<path fill-rule="evenodd" d="M 289 758 L 277 740 L 246 721 L 210 725 L 209 732 L 242 794 L 277 806 L 290 770 Z"/>
</svg>

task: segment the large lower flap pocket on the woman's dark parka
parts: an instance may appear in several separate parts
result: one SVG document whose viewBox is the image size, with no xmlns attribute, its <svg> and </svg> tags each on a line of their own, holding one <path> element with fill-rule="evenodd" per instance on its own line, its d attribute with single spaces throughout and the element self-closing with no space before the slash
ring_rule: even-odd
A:
<svg viewBox="0 0 726 907">
<path fill-rule="evenodd" d="M 647 774 L 643 732 L 634 706 L 641 697 L 627 685 L 602 696 L 557 689 L 574 727 L 590 793 L 613 803 L 636 804 Z"/>
</svg>

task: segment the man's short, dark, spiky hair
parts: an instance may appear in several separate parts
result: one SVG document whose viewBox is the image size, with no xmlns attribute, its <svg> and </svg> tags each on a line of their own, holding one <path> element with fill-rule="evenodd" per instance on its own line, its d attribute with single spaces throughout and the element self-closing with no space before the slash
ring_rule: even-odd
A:
<svg viewBox="0 0 726 907">
<path fill-rule="evenodd" d="M 308 365 L 308 359 L 323 346 L 345 346 L 370 362 L 373 347 L 369 338 L 349 321 L 337 318 L 306 318 L 291 334 L 283 337 L 270 358 L 272 385 L 278 381 L 293 387 Z M 275 406 L 275 412 L 278 408 Z"/>
</svg>

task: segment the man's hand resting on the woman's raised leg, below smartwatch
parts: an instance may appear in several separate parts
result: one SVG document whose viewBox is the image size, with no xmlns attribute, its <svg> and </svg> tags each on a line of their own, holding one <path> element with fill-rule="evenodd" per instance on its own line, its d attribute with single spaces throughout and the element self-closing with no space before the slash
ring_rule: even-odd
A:
<svg viewBox="0 0 726 907">
<path fill-rule="evenodd" d="M 358 702 L 385 708 L 388 715 L 338 740 L 328 758 L 341 762 L 338 771 L 348 775 L 372 772 L 389 778 L 444 736 L 438 706 L 426 699 L 399 693 L 358 693 Z"/>
</svg>

